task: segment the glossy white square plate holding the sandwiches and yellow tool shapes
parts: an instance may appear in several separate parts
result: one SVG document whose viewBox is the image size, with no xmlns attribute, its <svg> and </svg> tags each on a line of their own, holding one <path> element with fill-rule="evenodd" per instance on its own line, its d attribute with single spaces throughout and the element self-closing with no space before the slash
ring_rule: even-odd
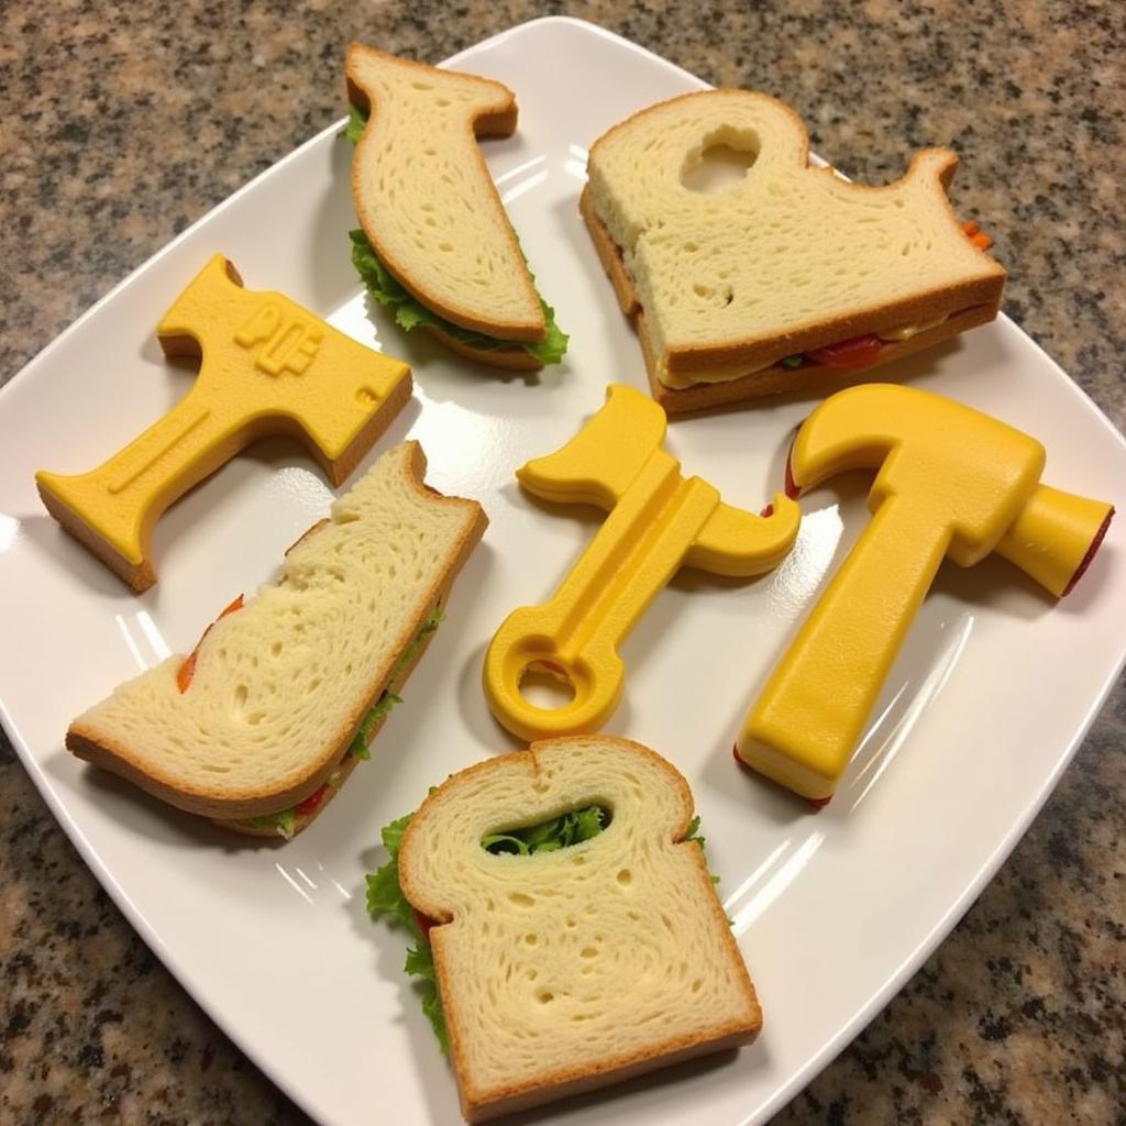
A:
<svg viewBox="0 0 1126 1126">
<path fill-rule="evenodd" d="M 453 1079 L 405 978 L 402 935 L 373 924 L 364 873 L 378 830 L 428 785 L 510 748 L 480 688 L 493 631 L 555 589 L 596 527 L 547 511 L 512 471 L 555 449 L 610 381 L 644 386 L 633 333 L 580 222 L 587 146 L 643 106 L 703 87 L 568 19 L 515 28 L 452 66 L 517 91 L 518 134 L 485 151 L 540 288 L 572 334 L 536 384 L 458 361 L 368 316 L 349 261 L 350 146 L 329 129 L 185 232 L 47 348 L 0 395 L 3 721 L 39 790 L 145 940 L 249 1055 L 324 1123 L 458 1119 Z M 908 153 L 904 152 L 904 164 Z M 492 519 L 405 701 L 324 817 L 284 848 L 232 841 L 63 749 L 68 722 L 118 681 L 187 651 L 252 592 L 327 508 L 294 444 L 263 443 L 161 520 L 158 584 L 132 596 L 43 512 L 33 474 L 77 472 L 137 435 L 189 385 L 155 343 L 161 313 L 223 251 L 251 288 L 277 288 L 414 366 L 415 397 L 375 453 L 421 439 L 430 481 Z M 1039 437 L 1049 483 L 1106 495 L 1126 481 L 1120 436 L 1006 319 L 894 370 Z M 781 483 L 810 401 L 676 422 L 687 473 L 757 511 Z M 374 456 L 374 455 L 373 455 Z M 864 488 L 803 501 L 793 555 L 759 581 L 685 572 L 624 649 L 610 730 L 687 775 L 759 988 L 766 1026 L 738 1056 L 546 1111 L 569 1123 L 761 1121 L 893 995 L 962 915 L 1063 770 L 1124 656 L 1126 521 L 1058 606 L 1001 560 L 944 569 L 833 803 L 821 813 L 731 758 L 757 686 L 864 527 Z M 1120 499 L 1120 498 L 1119 498 Z"/>
</svg>

